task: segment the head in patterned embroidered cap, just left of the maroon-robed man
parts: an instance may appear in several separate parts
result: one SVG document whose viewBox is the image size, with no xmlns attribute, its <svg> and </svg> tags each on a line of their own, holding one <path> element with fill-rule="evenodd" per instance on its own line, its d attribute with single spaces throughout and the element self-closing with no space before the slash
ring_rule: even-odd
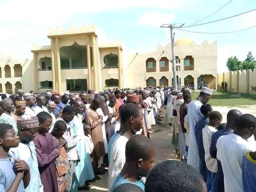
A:
<svg viewBox="0 0 256 192">
<path fill-rule="evenodd" d="M 39 127 L 39 121 L 37 117 L 33 116 L 20 116 L 17 118 L 18 136 L 21 143 L 31 142 Z"/>
</svg>

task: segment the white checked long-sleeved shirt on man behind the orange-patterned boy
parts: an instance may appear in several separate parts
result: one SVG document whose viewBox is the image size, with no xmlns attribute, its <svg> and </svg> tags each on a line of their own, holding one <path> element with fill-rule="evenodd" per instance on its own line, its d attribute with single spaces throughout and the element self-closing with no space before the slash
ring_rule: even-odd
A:
<svg viewBox="0 0 256 192">
<path fill-rule="evenodd" d="M 62 118 L 58 118 L 56 121 L 64 121 Z M 65 122 L 65 121 L 64 121 Z M 65 150 L 68 156 L 68 160 L 76 161 L 78 160 L 78 154 L 76 151 L 76 144 L 80 141 L 79 136 L 74 136 L 73 127 L 70 126 L 70 123 L 66 123 L 67 129 L 63 134 L 63 138 L 66 140 Z"/>
</svg>

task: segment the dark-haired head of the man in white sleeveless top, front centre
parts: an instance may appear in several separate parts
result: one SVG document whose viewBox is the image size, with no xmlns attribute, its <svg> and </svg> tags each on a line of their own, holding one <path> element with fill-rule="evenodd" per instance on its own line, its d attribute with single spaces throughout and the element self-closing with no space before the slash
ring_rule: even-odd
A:
<svg viewBox="0 0 256 192">
<path fill-rule="evenodd" d="M 132 132 L 139 131 L 143 126 L 143 113 L 139 106 L 134 103 L 126 103 L 120 111 L 121 122 L 127 125 Z"/>
</svg>

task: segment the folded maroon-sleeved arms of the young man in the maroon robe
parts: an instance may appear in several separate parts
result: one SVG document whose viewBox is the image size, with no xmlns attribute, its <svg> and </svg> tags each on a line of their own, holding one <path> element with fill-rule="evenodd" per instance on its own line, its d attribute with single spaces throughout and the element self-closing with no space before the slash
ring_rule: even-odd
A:
<svg viewBox="0 0 256 192">
<path fill-rule="evenodd" d="M 34 138 L 33 142 L 36 147 L 38 167 L 43 167 L 45 165 L 50 164 L 59 155 L 60 148 L 59 146 L 57 147 L 58 143 L 53 138 L 52 138 L 53 150 L 50 154 L 43 154 L 43 151 L 38 139 Z"/>
</svg>

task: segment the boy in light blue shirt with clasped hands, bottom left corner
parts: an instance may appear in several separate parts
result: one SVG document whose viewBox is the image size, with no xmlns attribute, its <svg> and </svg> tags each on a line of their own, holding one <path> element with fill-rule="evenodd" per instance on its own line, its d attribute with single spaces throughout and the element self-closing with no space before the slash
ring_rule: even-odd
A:
<svg viewBox="0 0 256 192">
<path fill-rule="evenodd" d="M 8 153 L 18 146 L 20 139 L 11 125 L 0 123 L 0 127 L 0 191 L 23 192 L 30 182 L 30 168 Z"/>
</svg>

